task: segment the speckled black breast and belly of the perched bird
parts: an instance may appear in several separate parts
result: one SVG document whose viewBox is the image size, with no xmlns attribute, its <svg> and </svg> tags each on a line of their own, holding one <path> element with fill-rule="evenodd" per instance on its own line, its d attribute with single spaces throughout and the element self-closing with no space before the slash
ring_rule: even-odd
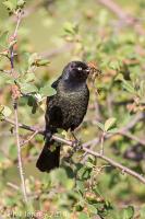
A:
<svg viewBox="0 0 145 219">
<path fill-rule="evenodd" d="M 49 125 L 68 130 L 75 129 L 83 120 L 87 111 L 89 92 L 87 87 L 74 90 L 57 92 L 48 102 L 46 117 Z"/>
</svg>

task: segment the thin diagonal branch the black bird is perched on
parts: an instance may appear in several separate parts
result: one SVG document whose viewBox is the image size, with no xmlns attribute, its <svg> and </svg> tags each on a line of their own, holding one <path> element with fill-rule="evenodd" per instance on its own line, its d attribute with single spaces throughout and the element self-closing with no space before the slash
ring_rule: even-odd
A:
<svg viewBox="0 0 145 219">
<path fill-rule="evenodd" d="M 15 123 L 13 120 L 9 119 L 9 118 L 4 118 L 4 120 L 8 122 L 8 123 L 10 123 L 10 124 L 12 124 L 12 125 L 15 125 Z M 33 132 L 37 131 L 37 134 L 45 135 L 45 130 L 43 130 L 43 129 L 36 129 L 35 127 L 26 126 L 26 125 L 23 125 L 23 124 L 19 124 L 19 127 L 20 128 L 24 128 L 26 130 L 31 130 Z M 52 136 L 52 139 L 56 140 L 56 141 L 58 141 L 58 142 L 65 143 L 65 145 L 69 145 L 71 147 L 73 147 L 73 141 L 71 141 L 71 140 L 62 139 L 62 138 L 60 138 L 60 137 L 58 137 L 56 135 Z M 96 139 L 93 139 L 92 141 L 83 143 L 82 145 L 82 149 L 85 152 L 87 152 L 87 153 L 89 153 L 92 155 L 95 155 L 97 158 L 100 158 L 101 160 L 107 161 L 112 166 L 121 170 L 122 173 L 128 173 L 129 175 L 132 175 L 133 177 L 137 178 L 140 182 L 142 182 L 143 184 L 145 184 L 145 177 L 143 177 L 141 174 L 138 174 L 138 173 L 132 171 L 131 169 L 129 169 L 129 168 L 126 168 L 126 166 L 124 166 L 124 165 L 122 165 L 122 164 L 113 161 L 112 159 L 110 159 L 108 157 L 105 157 L 105 155 L 102 155 L 102 154 L 100 154 L 100 153 L 98 153 L 96 151 L 93 151 L 93 150 L 88 149 L 87 147 L 90 146 L 95 141 L 98 142 L 98 139 L 96 138 Z"/>
</svg>

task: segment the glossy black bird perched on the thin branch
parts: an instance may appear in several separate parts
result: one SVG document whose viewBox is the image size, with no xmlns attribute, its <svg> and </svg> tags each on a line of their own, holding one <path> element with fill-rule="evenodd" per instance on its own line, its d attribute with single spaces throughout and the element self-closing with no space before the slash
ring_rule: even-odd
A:
<svg viewBox="0 0 145 219">
<path fill-rule="evenodd" d="M 55 140 L 51 136 L 58 128 L 73 131 L 83 120 L 88 105 L 89 91 L 86 79 L 89 67 L 82 61 L 68 64 L 62 74 L 51 87 L 57 93 L 47 97 L 46 142 L 36 166 L 43 172 L 59 166 L 60 145 L 51 149 Z"/>
</svg>

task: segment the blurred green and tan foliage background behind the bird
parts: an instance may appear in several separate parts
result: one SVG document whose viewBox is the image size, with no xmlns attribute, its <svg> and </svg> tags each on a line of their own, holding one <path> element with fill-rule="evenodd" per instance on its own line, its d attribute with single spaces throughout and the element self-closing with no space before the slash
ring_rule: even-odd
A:
<svg viewBox="0 0 145 219">
<path fill-rule="evenodd" d="M 101 69 L 94 85 L 88 80 L 89 106 L 76 136 L 82 142 L 97 139 L 90 148 L 99 151 L 100 124 L 116 118 L 116 132 L 104 141 L 105 154 L 140 174 L 145 173 L 144 14 L 144 0 L 29 0 L 15 48 L 17 72 L 26 71 L 36 53 L 50 61 L 47 67 L 32 69 L 35 72 L 32 82 L 37 88 L 57 79 L 71 60 L 93 61 Z M 14 26 L 14 15 L 9 16 L 1 1 L 1 33 L 9 31 L 11 35 Z M 10 70 L 3 57 L 0 69 Z M 45 97 L 28 104 L 29 97 L 22 96 L 19 122 L 43 128 Z M 9 117 L 13 119 L 10 84 L 2 77 L 0 105 L 11 110 Z M 70 138 L 64 131 L 59 135 Z M 29 132 L 21 129 L 20 137 L 26 140 Z M 61 168 L 50 174 L 40 173 L 35 163 L 43 143 L 43 136 L 37 135 L 22 149 L 29 212 L 39 212 L 36 218 L 43 218 L 44 211 L 51 212 L 51 218 L 145 218 L 143 183 L 82 151 L 68 161 L 71 150 L 68 146 L 62 147 Z M 24 216 L 14 128 L 5 122 L 0 123 L 0 211 Z"/>
</svg>

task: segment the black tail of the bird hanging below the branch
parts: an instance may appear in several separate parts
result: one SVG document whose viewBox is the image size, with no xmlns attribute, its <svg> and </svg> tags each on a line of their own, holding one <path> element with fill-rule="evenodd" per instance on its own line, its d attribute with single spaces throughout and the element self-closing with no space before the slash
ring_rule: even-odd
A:
<svg viewBox="0 0 145 219">
<path fill-rule="evenodd" d="M 57 146 L 53 150 L 50 150 L 53 143 L 53 140 L 46 138 L 45 146 L 36 163 L 36 166 L 41 172 L 49 172 L 52 169 L 59 168 L 60 146 Z"/>
</svg>

